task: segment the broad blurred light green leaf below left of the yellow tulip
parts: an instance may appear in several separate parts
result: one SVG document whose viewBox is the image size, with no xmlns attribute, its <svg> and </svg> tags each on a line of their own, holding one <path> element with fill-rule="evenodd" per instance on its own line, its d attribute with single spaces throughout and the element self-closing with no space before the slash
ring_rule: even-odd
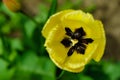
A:
<svg viewBox="0 0 120 80">
<path fill-rule="evenodd" d="M 38 74 L 42 76 L 42 80 L 55 80 L 55 65 L 51 60 L 47 57 L 38 57 L 33 51 L 24 54 L 19 64 L 20 70 Z"/>
</svg>

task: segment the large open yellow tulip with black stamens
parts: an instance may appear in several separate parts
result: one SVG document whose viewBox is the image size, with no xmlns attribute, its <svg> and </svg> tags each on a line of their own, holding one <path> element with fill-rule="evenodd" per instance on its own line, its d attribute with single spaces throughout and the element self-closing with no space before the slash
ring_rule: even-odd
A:
<svg viewBox="0 0 120 80">
<path fill-rule="evenodd" d="M 51 60 L 61 69 L 81 72 L 91 60 L 100 61 L 105 49 L 103 24 L 81 10 L 51 16 L 42 30 Z"/>
</svg>

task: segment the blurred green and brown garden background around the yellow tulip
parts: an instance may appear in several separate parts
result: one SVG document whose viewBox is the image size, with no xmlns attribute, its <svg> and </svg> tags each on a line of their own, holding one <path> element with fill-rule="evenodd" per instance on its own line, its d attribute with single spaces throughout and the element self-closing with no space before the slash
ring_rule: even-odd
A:
<svg viewBox="0 0 120 80">
<path fill-rule="evenodd" d="M 23 0 L 22 6 L 26 15 L 9 11 L 0 1 L 0 80 L 120 80 L 119 0 Z M 63 73 L 43 47 L 46 20 L 65 9 L 92 13 L 106 31 L 103 59 L 78 74 Z"/>
</svg>

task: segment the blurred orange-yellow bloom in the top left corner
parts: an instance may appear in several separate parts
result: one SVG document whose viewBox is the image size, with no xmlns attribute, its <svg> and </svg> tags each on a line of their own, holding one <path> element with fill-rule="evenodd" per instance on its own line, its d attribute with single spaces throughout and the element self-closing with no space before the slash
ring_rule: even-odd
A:
<svg viewBox="0 0 120 80">
<path fill-rule="evenodd" d="M 3 0 L 3 3 L 7 8 L 13 12 L 17 12 L 21 9 L 20 1 L 18 0 Z"/>
</svg>

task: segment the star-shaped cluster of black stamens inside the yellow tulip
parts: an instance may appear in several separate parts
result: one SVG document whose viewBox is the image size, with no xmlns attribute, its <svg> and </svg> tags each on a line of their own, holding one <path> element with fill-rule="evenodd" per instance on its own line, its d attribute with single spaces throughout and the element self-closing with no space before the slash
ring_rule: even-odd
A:
<svg viewBox="0 0 120 80">
<path fill-rule="evenodd" d="M 68 37 L 65 37 L 61 41 L 61 43 L 66 48 L 70 47 L 70 49 L 67 53 L 68 56 L 71 56 L 74 51 L 76 51 L 77 53 L 80 53 L 80 54 L 84 54 L 86 45 L 93 42 L 93 39 L 91 39 L 91 38 L 83 38 L 86 35 L 86 33 L 82 27 L 76 29 L 74 32 L 72 32 L 70 30 L 70 28 L 65 27 L 65 31 L 66 31 L 66 35 Z M 72 45 L 73 43 L 71 40 L 78 40 L 78 42 L 75 45 Z"/>
</svg>

